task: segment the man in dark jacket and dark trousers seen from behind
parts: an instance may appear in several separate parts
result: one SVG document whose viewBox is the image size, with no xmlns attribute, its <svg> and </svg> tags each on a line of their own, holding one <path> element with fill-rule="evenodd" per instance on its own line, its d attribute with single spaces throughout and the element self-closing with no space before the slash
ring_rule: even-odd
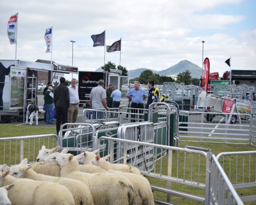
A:
<svg viewBox="0 0 256 205">
<path fill-rule="evenodd" d="M 59 134 L 61 124 L 68 122 L 68 108 L 69 108 L 69 90 L 65 86 L 66 79 L 61 77 L 59 79 L 59 86 L 54 91 L 54 105 L 56 108 L 56 130 Z M 65 129 L 65 128 L 64 128 Z"/>
</svg>

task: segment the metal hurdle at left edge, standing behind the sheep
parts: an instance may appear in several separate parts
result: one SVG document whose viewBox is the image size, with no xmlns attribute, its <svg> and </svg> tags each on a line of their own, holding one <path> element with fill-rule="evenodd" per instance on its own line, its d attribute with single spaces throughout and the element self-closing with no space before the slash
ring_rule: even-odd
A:
<svg viewBox="0 0 256 205">
<path fill-rule="evenodd" d="M 49 134 L 0 138 L 0 162 L 14 165 L 24 158 L 34 162 L 42 145 L 46 148 L 58 146 L 58 136 Z"/>
</svg>

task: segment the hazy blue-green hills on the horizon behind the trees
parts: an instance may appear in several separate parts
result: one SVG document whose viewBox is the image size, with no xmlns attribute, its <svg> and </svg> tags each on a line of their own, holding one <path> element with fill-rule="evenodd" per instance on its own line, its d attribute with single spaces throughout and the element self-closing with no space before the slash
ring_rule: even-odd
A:
<svg viewBox="0 0 256 205">
<path fill-rule="evenodd" d="M 147 70 L 146 68 L 140 68 L 140 69 L 135 69 L 135 70 L 128 70 L 128 76 L 131 78 L 134 77 L 139 77 L 139 75 L 144 71 Z M 185 70 L 189 70 L 191 72 L 191 77 L 192 78 L 200 78 L 200 75 L 202 74 L 202 68 L 197 66 L 194 63 L 189 62 L 188 60 L 182 60 L 181 62 L 175 64 L 174 66 L 169 67 L 168 69 L 161 70 L 161 71 L 156 71 L 152 69 L 151 70 L 153 73 L 157 73 L 160 76 L 171 76 L 175 77 L 179 73 Z"/>
</svg>

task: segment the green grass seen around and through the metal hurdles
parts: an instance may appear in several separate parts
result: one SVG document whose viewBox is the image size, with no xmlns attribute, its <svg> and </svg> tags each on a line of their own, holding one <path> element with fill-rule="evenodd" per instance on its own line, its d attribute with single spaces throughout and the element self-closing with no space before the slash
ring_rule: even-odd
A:
<svg viewBox="0 0 256 205">
<path fill-rule="evenodd" d="M 0 124 L 0 138 L 3 137 L 10 137 L 10 136 L 27 136 L 27 135 L 42 135 L 42 134 L 55 134 L 55 128 L 49 128 L 49 127 L 29 127 L 27 125 L 24 126 L 18 126 L 18 125 L 6 125 L 6 124 Z M 31 140 L 31 141 L 24 141 L 24 145 L 26 145 L 26 150 L 24 151 L 24 153 L 26 153 L 26 155 L 24 155 L 24 158 L 30 158 L 30 159 L 35 159 L 38 149 L 41 148 L 42 145 L 47 144 L 48 145 L 54 145 L 56 143 L 56 141 L 54 139 L 46 139 L 46 141 L 44 141 L 43 139 L 40 140 Z M 36 145 L 36 146 L 35 146 Z M 214 153 L 215 155 L 217 155 L 220 152 L 235 152 L 235 151 L 255 151 L 255 147 L 251 146 L 251 145 L 231 145 L 231 144 L 222 144 L 222 143 L 202 143 L 202 142 L 179 142 L 179 147 L 184 148 L 185 145 L 190 145 L 190 146 L 199 146 L 202 148 L 207 148 L 207 149 L 211 149 L 212 153 Z M 3 152 L 3 148 L 5 147 L 5 153 Z M 14 159 L 18 158 L 19 159 L 19 153 L 12 153 L 13 150 L 19 150 L 19 145 L 17 143 L 15 143 L 15 141 L 10 145 L 9 143 L 4 143 L 4 142 L 0 142 L 0 163 L 4 162 L 6 163 L 6 160 L 9 163 L 18 163 L 15 162 Z M 10 153 L 12 153 L 11 157 L 10 157 Z M 18 156 L 18 157 L 17 157 Z M 193 160 L 193 163 L 191 165 L 191 168 L 193 169 L 193 172 L 199 173 L 200 179 L 194 179 L 194 176 L 191 176 L 191 169 L 189 168 L 185 168 L 183 169 L 183 165 L 184 165 L 184 159 L 186 157 L 186 160 L 189 162 L 189 159 Z M 252 169 L 253 171 L 250 173 L 251 175 L 251 180 L 256 181 L 255 177 L 256 177 L 256 173 L 255 173 L 255 167 L 256 167 L 256 158 L 255 156 L 253 156 L 254 159 L 250 159 L 251 160 L 251 167 L 254 168 Z M 186 163 L 187 163 L 186 161 Z M 157 162 L 157 168 L 155 170 L 156 173 L 159 173 L 159 163 Z M 178 151 L 174 152 L 174 156 L 173 156 L 173 165 L 172 165 L 172 176 L 176 177 L 180 177 L 181 179 L 183 179 L 183 177 L 187 180 L 192 179 L 193 181 L 197 182 L 197 180 L 199 180 L 200 183 L 205 183 L 205 159 L 202 158 L 201 161 L 201 168 L 200 170 L 198 170 L 198 159 L 197 156 L 193 156 L 189 155 L 187 153 L 187 156 L 184 156 L 184 153 L 180 153 L 178 155 Z M 224 162 L 225 164 L 228 163 L 228 161 Z M 244 168 L 244 172 L 248 173 L 250 171 L 248 171 L 248 159 L 238 159 L 238 163 L 239 163 L 239 168 L 242 169 Z M 165 156 L 162 159 L 162 175 L 167 175 L 167 164 L 168 164 L 168 157 Z M 234 168 L 235 165 L 231 165 L 231 179 L 234 178 L 234 174 L 232 172 L 232 169 Z M 228 168 L 228 166 L 225 166 L 225 168 Z M 229 170 L 225 170 L 226 173 L 229 173 Z M 247 180 L 247 179 L 240 179 L 241 178 L 241 174 L 238 175 L 239 179 L 238 181 L 241 182 L 241 180 Z M 166 181 L 165 180 L 161 180 L 161 179 L 156 179 L 156 178 L 152 178 L 152 177 L 148 177 L 148 180 L 151 184 L 157 185 L 157 186 L 166 186 Z M 197 187 L 191 187 L 191 186 L 186 186 L 180 183 L 172 183 L 171 184 L 172 189 L 174 190 L 178 190 L 180 192 L 187 192 L 189 194 L 196 194 L 198 196 L 204 196 L 204 190 L 197 188 Z M 237 189 L 237 192 L 240 196 L 247 196 L 248 194 L 255 194 L 256 193 L 256 188 L 252 187 L 252 188 L 248 188 L 248 189 Z M 166 199 L 166 194 L 163 194 L 161 192 L 154 192 L 154 197 L 160 200 L 165 200 Z M 182 199 L 181 197 L 177 197 L 177 196 L 172 196 L 171 198 L 172 203 L 174 204 L 201 204 L 201 203 L 197 203 L 195 201 L 191 201 L 191 200 L 186 200 L 186 199 Z M 255 203 L 245 203 L 245 204 L 255 204 Z"/>
</svg>

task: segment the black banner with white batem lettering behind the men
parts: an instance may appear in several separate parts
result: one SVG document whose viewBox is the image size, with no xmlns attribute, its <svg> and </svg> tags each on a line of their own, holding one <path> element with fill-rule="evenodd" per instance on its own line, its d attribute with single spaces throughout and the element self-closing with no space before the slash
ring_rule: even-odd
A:
<svg viewBox="0 0 256 205">
<path fill-rule="evenodd" d="M 89 101 L 91 90 L 98 86 L 99 80 L 104 80 L 103 72 L 79 71 L 78 94 L 80 101 Z"/>
</svg>

